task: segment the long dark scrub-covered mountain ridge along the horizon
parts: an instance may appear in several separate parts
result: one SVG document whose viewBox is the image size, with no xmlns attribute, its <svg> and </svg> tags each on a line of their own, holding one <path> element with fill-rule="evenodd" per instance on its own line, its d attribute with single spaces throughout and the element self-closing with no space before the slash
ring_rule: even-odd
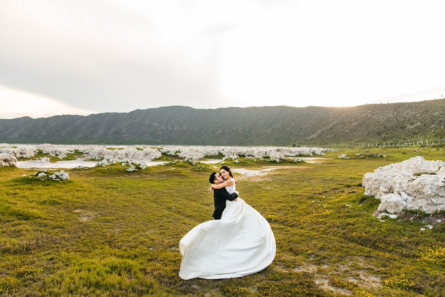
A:
<svg viewBox="0 0 445 297">
<path fill-rule="evenodd" d="M 0 119 L 0 143 L 334 145 L 412 140 L 432 130 L 443 139 L 444 125 L 445 99 L 355 107 L 167 106 Z"/>
</svg>

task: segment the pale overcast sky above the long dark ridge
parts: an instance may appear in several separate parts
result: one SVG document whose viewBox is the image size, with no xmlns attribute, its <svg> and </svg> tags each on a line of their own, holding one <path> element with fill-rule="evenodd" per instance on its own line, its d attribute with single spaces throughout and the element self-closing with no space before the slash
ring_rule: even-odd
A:
<svg viewBox="0 0 445 297">
<path fill-rule="evenodd" d="M 0 118 L 445 96 L 442 0 L 1 0 Z"/>
</svg>

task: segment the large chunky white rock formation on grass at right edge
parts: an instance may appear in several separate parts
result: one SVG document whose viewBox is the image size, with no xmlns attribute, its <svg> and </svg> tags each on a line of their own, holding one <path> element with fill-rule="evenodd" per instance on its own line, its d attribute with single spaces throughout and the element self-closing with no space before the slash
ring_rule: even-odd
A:
<svg viewBox="0 0 445 297">
<path fill-rule="evenodd" d="M 445 162 L 417 156 L 379 167 L 362 180 L 365 195 L 380 199 L 377 212 L 397 214 L 403 209 L 427 213 L 445 210 Z"/>
</svg>

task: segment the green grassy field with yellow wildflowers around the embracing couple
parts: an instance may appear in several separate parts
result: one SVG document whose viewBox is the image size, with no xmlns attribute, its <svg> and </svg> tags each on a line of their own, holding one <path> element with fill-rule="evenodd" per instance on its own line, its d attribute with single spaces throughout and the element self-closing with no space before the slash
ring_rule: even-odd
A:
<svg viewBox="0 0 445 297">
<path fill-rule="evenodd" d="M 225 280 L 178 277 L 180 239 L 211 219 L 211 166 L 72 169 L 63 182 L 2 167 L 0 295 L 445 296 L 444 223 L 421 231 L 424 214 L 381 222 L 372 216 L 379 200 L 361 187 L 366 172 L 416 155 L 444 160 L 445 150 L 340 149 L 315 164 L 226 162 L 279 169 L 236 176 L 240 196 L 270 222 L 275 260 Z"/>
</svg>

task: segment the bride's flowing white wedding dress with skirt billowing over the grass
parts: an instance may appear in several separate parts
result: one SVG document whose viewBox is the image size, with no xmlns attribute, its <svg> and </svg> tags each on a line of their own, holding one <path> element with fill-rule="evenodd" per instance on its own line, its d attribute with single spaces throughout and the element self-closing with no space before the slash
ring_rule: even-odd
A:
<svg viewBox="0 0 445 297">
<path fill-rule="evenodd" d="M 235 192 L 235 183 L 226 190 Z M 226 200 L 220 220 L 199 224 L 179 242 L 179 277 L 242 277 L 269 266 L 276 244 L 269 223 L 243 199 Z"/>
</svg>

